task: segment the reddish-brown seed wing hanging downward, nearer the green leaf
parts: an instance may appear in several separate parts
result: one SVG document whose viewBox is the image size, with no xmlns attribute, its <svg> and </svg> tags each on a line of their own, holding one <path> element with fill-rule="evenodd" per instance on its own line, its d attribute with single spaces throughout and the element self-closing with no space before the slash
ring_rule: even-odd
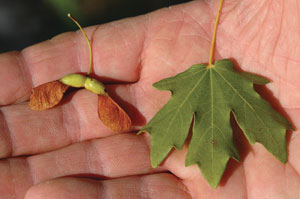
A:
<svg viewBox="0 0 300 199">
<path fill-rule="evenodd" d="M 126 132 L 131 128 L 130 117 L 109 96 L 99 95 L 98 114 L 100 120 L 112 131 Z"/>
</svg>

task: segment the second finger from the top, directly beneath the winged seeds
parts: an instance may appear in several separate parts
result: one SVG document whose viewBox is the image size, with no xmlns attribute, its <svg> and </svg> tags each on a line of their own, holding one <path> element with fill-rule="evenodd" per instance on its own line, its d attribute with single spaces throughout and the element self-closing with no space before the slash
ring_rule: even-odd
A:
<svg viewBox="0 0 300 199">
<path fill-rule="evenodd" d="M 126 108 L 125 108 L 126 111 Z M 116 134 L 98 117 L 98 96 L 80 90 L 62 105 L 33 111 L 28 103 L 0 108 L 0 157 L 29 155 Z"/>
</svg>

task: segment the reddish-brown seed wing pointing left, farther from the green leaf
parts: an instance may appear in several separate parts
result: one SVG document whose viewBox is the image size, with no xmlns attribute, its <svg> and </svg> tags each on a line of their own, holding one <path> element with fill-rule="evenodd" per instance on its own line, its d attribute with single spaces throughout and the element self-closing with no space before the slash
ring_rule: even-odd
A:
<svg viewBox="0 0 300 199">
<path fill-rule="evenodd" d="M 69 86 L 53 81 L 33 88 L 30 96 L 30 108 L 32 110 L 45 110 L 52 108 L 60 102 Z"/>
</svg>

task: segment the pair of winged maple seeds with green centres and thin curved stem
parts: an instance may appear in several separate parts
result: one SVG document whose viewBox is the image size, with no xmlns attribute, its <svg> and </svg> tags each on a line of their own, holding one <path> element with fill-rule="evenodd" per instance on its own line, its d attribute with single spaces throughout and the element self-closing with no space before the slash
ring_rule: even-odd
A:
<svg viewBox="0 0 300 199">
<path fill-rule="evenodd" d="M 127 113 L 108 95 L 105 86 L 96 79 L 89 77 L 92 69 L 92 48 L 90 41 L 80 24 L 70 15 L 86 39 L 90 51 L 90 65 L 87 76 L 69 74 L 60 80 L 42 84 L 33 88 L 29 106 L 33 110 L 45 110 L 57 105 L 66 90 L 71 87 L 85 88 L 98 95 L 98 116 L 112 131 L 125 132 L 131 128 L 131 119 Z"/>
</svg>

